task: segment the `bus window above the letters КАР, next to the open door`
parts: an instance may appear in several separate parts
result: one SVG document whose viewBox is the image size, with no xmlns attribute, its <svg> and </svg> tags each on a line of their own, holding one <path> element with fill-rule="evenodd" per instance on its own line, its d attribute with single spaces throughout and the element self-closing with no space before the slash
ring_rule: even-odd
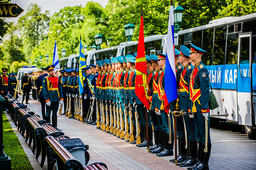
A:
<svg viewBox="0 0 256 170">
<path fill-rule="evenodd" d="M 238 33 L 228 35 L 226 44 L 226 64 L 237 63 Z"/>
</svg>

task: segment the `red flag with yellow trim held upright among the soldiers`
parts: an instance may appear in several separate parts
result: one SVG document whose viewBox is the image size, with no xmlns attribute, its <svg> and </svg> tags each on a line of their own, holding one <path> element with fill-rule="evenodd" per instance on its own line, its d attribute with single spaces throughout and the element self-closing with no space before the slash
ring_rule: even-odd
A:
<svg viewBox="0 0 256 170">
<path fill-rule="evenodd" d="M 136 79 L 135 79 L 135 94 L 147 109 L 150 108 L 150 101 L 147 95 L 147 61 L 144 46 L 144 29 L 143 29 L 143 14 L 141 14 L 141 27 L 139 29 L 139 42 L 136 57 Z"/>
</svg>

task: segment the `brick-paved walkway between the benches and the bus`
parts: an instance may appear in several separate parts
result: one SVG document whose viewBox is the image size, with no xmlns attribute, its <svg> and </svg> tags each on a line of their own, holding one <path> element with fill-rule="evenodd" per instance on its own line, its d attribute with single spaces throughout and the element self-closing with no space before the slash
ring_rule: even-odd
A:
<svg viewBox="0 0 256 170">
<path fill-rule="evenodd" d="M 29 102 L 28 108 L 40 114 L 40 103 L 35 100 Z M 241 126 L 232 122 L 216 126 L 218 128 L 210 128 L 210 169 L 256 169 L 256 141 L 241 134 Z M 90 162 L 104 162 L 109 169 L 182 169 L 168 161 L 174 156 L 148 154 L 146 148 L 131 145 L 96 129 L 96 126 L 58 115 L 58 128 L 71 138 L 81 138 L 89 145 Z"/>
</svg>

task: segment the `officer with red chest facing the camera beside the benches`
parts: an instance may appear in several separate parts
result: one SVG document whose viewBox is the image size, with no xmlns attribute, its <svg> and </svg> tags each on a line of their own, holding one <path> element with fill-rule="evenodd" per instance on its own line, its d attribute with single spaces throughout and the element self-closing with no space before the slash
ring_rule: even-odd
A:
<svg viewBox="0 0 256 170">
<path fill-rule="evenodd" d="M 49 65 L 46 67 L 49 76 L 43 78 L 43 94 L 46 100 L 46 121 L 50 122 L 50 116 L 52 111 L 52 126 L 57 128 L 57 111 L 59 108 L 59 103 L 63 103 L 63 93 L 61 89 L 59 77 L 54 75 L 54 65 Z"/>
</svg>

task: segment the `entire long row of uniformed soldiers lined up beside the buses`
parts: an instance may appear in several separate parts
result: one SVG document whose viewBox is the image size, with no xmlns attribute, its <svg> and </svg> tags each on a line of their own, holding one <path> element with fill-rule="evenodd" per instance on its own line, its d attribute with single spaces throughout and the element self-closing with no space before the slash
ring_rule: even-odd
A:
<svg viewBox="0 0 256 170">
<path fill-rule="evenodd" d="M 79 76 L 79 69 L 62 70 L 64 109 L 60 113 L 69 118 L 87 121 L 88 124 L 96 125 L 98 129 L 138 147 L 147 146 L 148 135 L 151 146 L 149 150 L 158 156 L 173 155 L 176 135 L 173 120 L 176 116 L 178 164 L 188 169 L 208 169 L 211 148 L 209 73 L 201 62 L 204 52 L 205 50 L 193 44 L 191 49 L 184 45 L 180 46 L 180 51 L 175 49 L 179 97 L 171 103 L 169 113 L 164 111 L 163 101 L 166 55 L 160 52 L 158 56 L 146 55 L 147 91 L 151 101 L 149 110 L 144 108 L 135 94 L 135 53 L 134 56 L 128 54 L 103 59 L 97 61 L 96 65 L 85 67 L 82 69 L 84 79 Z M 79 79 L 83 82 L 81 95 Z M 180 116 L 172 114 L 175 110 L 180 110 Z"/>
</svg>

